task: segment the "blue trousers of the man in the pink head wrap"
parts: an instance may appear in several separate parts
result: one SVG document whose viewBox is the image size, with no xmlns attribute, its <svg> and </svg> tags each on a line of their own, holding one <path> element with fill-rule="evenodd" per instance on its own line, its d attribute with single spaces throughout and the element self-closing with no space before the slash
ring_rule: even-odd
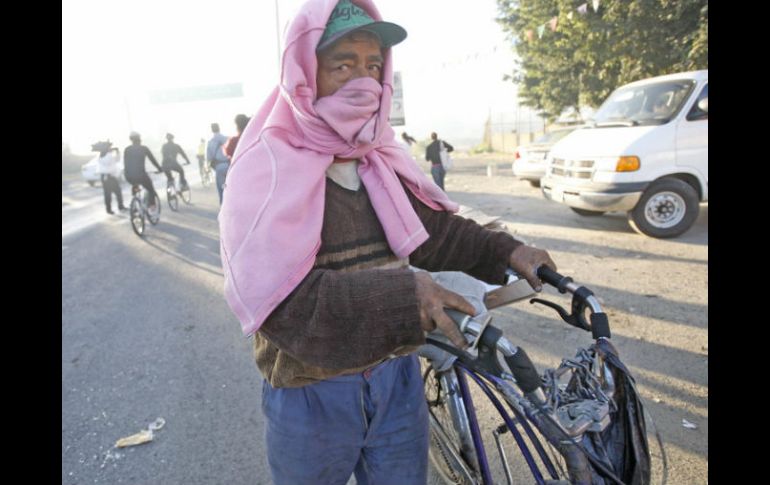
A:
<svg viewBox="0 0 770 485">
<path fill-rule="evenodd" d="M 428 407 L 416 355 L 304 387 L 262 388 L 275 485 L 424 485 Z"/>
</svg>

